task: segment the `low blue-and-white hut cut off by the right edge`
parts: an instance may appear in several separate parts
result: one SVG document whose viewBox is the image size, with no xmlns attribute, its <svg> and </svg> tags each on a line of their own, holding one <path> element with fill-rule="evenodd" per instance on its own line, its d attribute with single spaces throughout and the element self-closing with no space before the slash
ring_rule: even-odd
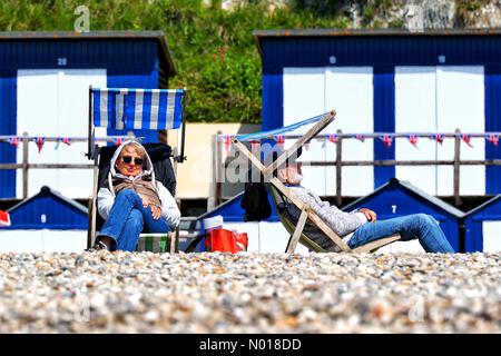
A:
<svg viewBox="0 0 501 356">
<path fill-rule="evenodd" d="M 501 195 L 468 211 L 463 221 L 466 253 L 501 251 Z"/>
</svg>

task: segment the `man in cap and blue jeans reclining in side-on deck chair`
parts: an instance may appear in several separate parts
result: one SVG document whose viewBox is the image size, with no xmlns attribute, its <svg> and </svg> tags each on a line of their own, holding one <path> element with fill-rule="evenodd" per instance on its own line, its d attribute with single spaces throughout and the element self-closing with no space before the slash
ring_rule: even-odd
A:
<svg viewBox="0 0 501 356">
<path fill-rule="evenodd" d="M 283 151 L 275 150 L 275 152 L 273 156 L 278 157 Z M 296 161 L 298 156 L 301 156 L 301 148 L 295 156 L 289 157 L 285 165 L 277 168 L 277 178 L 289 188 L 295 197 L 308 205 L 334 233 L 342 237 L 350 248 L 353 249 L 370 241 L 400 234 L 401 240 L 404 241 L 419 239 L 426 253 L 454 253 L 439 224 L 430 215 L 413 214 L 376 220 L 376 214 L 370 209 L 360 208 L 352 212 L 345 212 L 328 201 L 322 201 L 315 192 L 301 186 L 303 176 L 301 175 L 301 162 Z M 268 160 L 267 164 L 272 161 Z M 293 220 L 298 220 L 301 211 L 293 204 L 287 205 L 287 212 Z M 314 229 L 312 230 L 312 228 Z M 306 225 L 305 233 L 324 249 L 341 250 L 322 230 Z"/>
</svg>

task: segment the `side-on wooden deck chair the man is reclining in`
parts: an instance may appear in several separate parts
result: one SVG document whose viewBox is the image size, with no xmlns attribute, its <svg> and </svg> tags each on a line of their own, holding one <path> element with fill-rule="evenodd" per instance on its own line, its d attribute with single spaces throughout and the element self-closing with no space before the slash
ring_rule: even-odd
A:
<svg viewBox="0 0 501 356">
<path fill-rule="evenodd" d="M 242 144 L 237 138 L 232 138 L 232 144 L 250 161 L 253 166 L 255 166 L 264 177 L 264 181 L 266 182 L 267 189 L 272 195 L 273 201 L 275 204 L 276 211 L 281 218 L 282 224 L 286 228 L 286 230 L 291 234 L 291 238 L 287 243 L 287 247 L 285 249 L 286 253 L 294 253 L 297 243 L 302 243 L 308 249 L 313 251 L 326 251 L 322 248 L 317 243 L 315 243 L 307 234 L 305 234 L 304 229 L 306 222 L 310 222 L 310 226 L 316 227 L 320 231 L 322 231 L 327 238 L 330 238 L 335 246 L 338 247 L 341 251 L 344 253 L 371 253 L 374 251 L 387 244 L 394 243 L 399 240 L 400 235 L 392 235 L 375 241 L 371 241 L 366 245 L 358 246 L 357 248 L 350 248 L 346 243 L 341 239 L 341 237 L 331 229 L 318 215 L 313 211 L 306 204 L 296 198 L 289 189 L 276 177 L 273 177 L 273 172 L 277 167 L 285 164 L 288 157 L 292 156 L 293 152 L 297 151 L 299 147 L 304 144 L 307 144 L 313 137 L 315 137 L 320 131 L 322 131 L 326 126 L 328 126 L 335 118 L 335 111 L 332 110 L 323 116 L 323 118 L 312 127 L 303 137 L 301 137 L 296 142 L 294 142 L 284 154 L 282 154 L 275 161 L 273 161 L 269 166 L 265 167 L 261 160 L 255 157 L 247 147 Z M 297 221 L 293 221 L 285 214 L 285 205 L 292 204 L 294 205 L 299 212 L 299 217 Z"/>
</svg>

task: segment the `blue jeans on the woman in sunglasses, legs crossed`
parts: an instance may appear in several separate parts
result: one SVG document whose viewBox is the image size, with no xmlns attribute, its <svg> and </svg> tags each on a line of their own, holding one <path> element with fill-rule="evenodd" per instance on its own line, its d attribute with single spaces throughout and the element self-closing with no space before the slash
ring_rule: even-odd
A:
<svg viewBox="0 0 501 356">
<path fill-rule="evenodd" d="M 134 251 L 139 234 L 145 228 L 148 233 L 170 231 L 170 227 L 165 220 L 153 218 L 151 207 L 145 208 L 136 191 L 125 189 L 115 198 L 114 206 L 99 236 L 112 238 L 116 249 Z"/>
</svg>

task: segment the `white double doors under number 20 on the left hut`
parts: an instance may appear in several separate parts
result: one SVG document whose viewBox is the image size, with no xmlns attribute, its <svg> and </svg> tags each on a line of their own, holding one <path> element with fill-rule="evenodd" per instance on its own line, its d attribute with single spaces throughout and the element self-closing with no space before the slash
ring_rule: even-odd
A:
<svg viewBox="0 0 501 356">
<path fill-rule="evenodd" d="M 106 69 L 19 70 L 17 135 L 26 131 L 41 137 L 81 137 L 88 132 L 89 86 L 106 87 Z M 96 136 L 105 132 L 97 131 Z M 89 164 L 84 156 L 86 142 L 46 142 L 40 152 L 29 145 L 31 164 Z M 18 150 L 17 161 L 22 161 Z M 28 196 L 49 186 L 70 198 L 87 198 L 91 194 L 89 169 L 30 169 Z M 22 175 L 17 175 L 17 197 L 22 195 Z"/>
</svg>

